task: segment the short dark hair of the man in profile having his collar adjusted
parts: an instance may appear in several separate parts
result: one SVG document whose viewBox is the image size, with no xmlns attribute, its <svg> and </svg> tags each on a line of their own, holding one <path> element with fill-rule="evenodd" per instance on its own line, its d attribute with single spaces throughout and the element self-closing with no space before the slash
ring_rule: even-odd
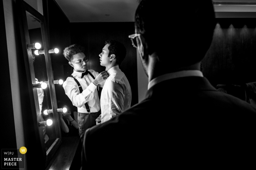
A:
<svg viewBox="0 0 256 170">
<path fill-rule="evenodd" d="M 124 44 L 116 40 L 106 40 L 105 45 L 109 44 L 109 56 L 114 54 L 116 56 L 116 64 L 121 64 L 126 56 L 126 48 Z"/>
</svg>

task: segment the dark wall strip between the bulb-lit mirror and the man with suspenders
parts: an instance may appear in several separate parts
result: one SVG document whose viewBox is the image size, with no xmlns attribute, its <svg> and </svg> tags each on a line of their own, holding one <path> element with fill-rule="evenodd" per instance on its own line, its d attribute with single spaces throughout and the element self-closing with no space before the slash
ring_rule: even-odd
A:
<svg viewBox="0 0 256 170">
<path fill-rule="evenodd" d="M 65 67 L 68 64 L 68 60 L 62 55 L 65 47 L 70 45 L 70 30 L 69 20 L 65 14 L 61 11 L 59 6 L 54 0 L 43 0 L 44 16 L 49 25 L 49 40 L 50 48 L 58 48 L 58 54 L 50 54 L 52 60 L 52 69 L 54 80 L 67 79 L 67 72 Z M 64 74 L 65 73 L 65 74 Z M 70 76 L 71 74 L 69 74 Z M 72 106 L 68 96 L 65 95 L 65 91 L 60 84 L 55 84 L 55 92 L 57 101 L 64 102 L 69 106 Z"/>
</svg>

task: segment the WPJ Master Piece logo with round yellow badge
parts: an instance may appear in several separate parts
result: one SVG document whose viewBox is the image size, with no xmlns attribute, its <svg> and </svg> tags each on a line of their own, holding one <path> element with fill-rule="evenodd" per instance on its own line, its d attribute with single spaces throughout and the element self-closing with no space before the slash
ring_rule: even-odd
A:
<svg viewBox="0 0 256 170">
<path fill-rule="evenodd" d="M 2 149 L 2 169 L 24 168 L 26 147 L 20 149 Z"/>
</svg>

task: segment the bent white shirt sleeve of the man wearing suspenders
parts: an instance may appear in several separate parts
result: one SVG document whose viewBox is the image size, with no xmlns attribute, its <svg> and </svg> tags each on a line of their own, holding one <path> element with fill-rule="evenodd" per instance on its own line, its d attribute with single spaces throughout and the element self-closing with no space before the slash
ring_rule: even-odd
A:
<svg viewBox="0 0 256 170">
<path fill-rule="evenodd" d="M 95 86 L 93 83 L 90 83 L 90 85 L 83 90 L 82 93 L 80 93 L 78 85 L 73 78 L 67 78 L 67 80 L 63 83 L 65 94 L 76 107 L 82 107 L 84 103 L 92 100 L 96 87 L 97 86 Z"/>
</svg>

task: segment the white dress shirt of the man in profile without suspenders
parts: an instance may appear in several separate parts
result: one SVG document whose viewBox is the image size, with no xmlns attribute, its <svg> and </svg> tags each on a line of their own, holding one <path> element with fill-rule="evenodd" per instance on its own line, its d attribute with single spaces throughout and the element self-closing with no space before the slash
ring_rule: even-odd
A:
<svg viewBox="0 0 256 170">
<path fill-rule="evenodd" d="M 132 91 L 128 79 L 118 66 L 108 70 L 101 92 L 101 123 L 131 107 Z"/>
</svg>

